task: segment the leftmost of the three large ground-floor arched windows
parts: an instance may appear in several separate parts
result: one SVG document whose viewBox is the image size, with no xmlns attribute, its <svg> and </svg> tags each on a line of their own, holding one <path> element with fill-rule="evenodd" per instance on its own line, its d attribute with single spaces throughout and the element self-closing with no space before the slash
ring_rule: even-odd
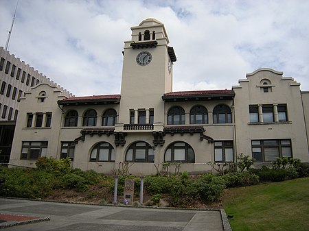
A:
<svg viewBox="0 0 309 231">
<path fill-rule="evenodd" d="M 115 162 L 114 147 L 110 143 L 98 143 L 91 151 L 90 161 Z"/>
</svg>

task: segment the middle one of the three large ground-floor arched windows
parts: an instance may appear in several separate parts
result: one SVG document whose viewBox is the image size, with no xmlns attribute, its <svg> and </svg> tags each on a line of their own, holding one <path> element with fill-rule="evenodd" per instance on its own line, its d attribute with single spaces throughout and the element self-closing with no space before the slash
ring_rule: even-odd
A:
<svg viewBox="0 0 309 231">
<path fill-rule="evenodd" d="M 137 142 L 130 145 L 126 151 L 126 161 L 130 162 L 155 162 L 155 153 L 146 142 Z"/>
</svg>

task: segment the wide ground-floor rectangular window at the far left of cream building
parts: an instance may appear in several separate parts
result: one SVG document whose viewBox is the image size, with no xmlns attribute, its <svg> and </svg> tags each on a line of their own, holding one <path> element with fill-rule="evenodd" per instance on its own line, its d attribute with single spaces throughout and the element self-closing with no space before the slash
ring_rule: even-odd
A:
<svg viewBox="0 0 309 231">
<path fill-rule="evenodd" d="M 47 141 L 43 142 L 23 142 L 21 147 L 21 159 L 35 160 L 40 156 L 47 155 Z"/>
</svg>

